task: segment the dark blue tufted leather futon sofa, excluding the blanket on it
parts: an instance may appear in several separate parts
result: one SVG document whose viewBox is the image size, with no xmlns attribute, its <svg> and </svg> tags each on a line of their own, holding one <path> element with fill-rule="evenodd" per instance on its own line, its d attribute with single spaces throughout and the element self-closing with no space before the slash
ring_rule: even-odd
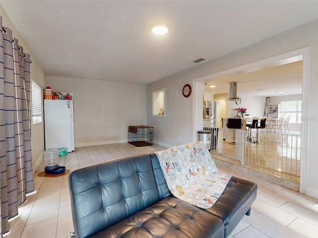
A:
<svg viewBox="0 0 318 238">
<path fill-rule="evenodd" d="M 170 194 L 157 155 L 140 155 L 70 173 L 76 238 L 226 238 L 256 198 L 257 185 L 232 177 L 203 210 Z"/>
</svg>

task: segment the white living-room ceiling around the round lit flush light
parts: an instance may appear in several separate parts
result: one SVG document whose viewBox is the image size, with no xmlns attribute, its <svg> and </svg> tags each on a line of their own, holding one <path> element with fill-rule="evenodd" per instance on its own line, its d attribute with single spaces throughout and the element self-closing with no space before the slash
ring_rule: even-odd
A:
<svg viewBox="0 0 318 238">
<path fill-rule="evenodd" d="M 305 0 L 1 4 L 46 75 L 141 84 L 318 19 L 318 1 Z M 167 35 L 151 33 L 150 25 L 158 21 L 171 26 Z M 193 62 L 199 58 L 206 60 Z M 243 82 L 235 80 L 239 93 Z"/>
</svg>

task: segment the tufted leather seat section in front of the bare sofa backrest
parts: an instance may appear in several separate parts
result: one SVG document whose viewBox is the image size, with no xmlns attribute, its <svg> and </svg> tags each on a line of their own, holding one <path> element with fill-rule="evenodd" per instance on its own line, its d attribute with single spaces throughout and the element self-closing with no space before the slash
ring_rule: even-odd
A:
<svg viewBox="0 0 318 238">
<path fill-rule="evenodd" d="M 90 238 L 224 238 L 223 221 L 167 197 Z"/>
</svg>

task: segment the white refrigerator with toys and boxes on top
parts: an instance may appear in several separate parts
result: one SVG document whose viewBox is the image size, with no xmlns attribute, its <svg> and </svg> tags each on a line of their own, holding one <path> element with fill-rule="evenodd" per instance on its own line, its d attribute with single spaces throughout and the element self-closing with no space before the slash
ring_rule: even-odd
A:
<svg viewBox="0 0 318 238">
<path fill-rule="evenodd" d="M 45 150 L 65 147 L 74 151 L 73 100 L 44 100 Z"/>
</svg>

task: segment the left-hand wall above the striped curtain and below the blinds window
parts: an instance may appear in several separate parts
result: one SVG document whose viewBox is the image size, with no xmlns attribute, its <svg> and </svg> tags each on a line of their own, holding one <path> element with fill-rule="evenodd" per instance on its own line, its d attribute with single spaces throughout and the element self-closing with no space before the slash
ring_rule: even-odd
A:
<svg viewBox="0 0 318 238">
<path fill-rule="evenodd" d="M 12 36 L 18 39 L 19 46 L 23 47 L 23 51 L 31 55 L 31 79 L 39 84 L 40 87 L 45 85 L 45 74 L 37 60 L 33 57 L 32 51 L 24 42 L 19 32 L 16 30 L 12 21 L 7 16 L 2 5 L 0 4 L 0 15 L 2 16 L 2 25 L 12 30 Z M 44 152 L 44 123 L 31 124 L 31 149 L 32 149 L 32 165 L 36 169 L 37 165 L 42 162 Z"/>
</svg>

